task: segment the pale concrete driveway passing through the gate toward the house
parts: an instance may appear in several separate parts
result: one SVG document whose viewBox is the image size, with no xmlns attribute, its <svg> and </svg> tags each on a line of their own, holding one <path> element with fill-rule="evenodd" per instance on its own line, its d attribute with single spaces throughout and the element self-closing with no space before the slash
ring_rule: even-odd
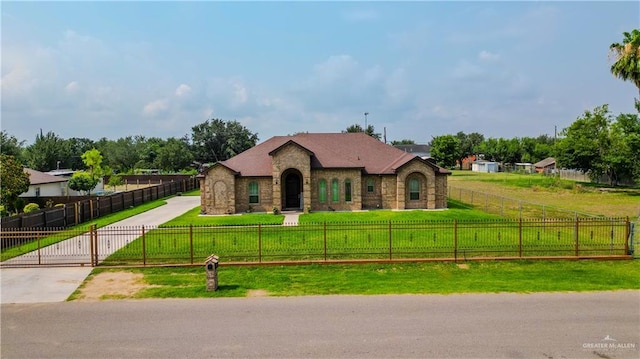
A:
<svg viewBox="0 0 640 359">
<path fill-rule="evenodd" d="M 167 200 L 167 204 L 154 208 L 150 211 L 116 222 L 105 228 L 113 227 L 139 227 L 157 226 L 182 213 L 187 212 L 200 205 L 198 196 L 179 196 Z M 88 246 L 88 236 L 82 238 Z M 132 238 L 137 234 L 132 235 Z M 59 246 L 77 247 L 79 237 L 61 242 Z M 54 249 L 55 246 L 51 246 Z M 116 246 L 102 245 L 100 253 L 106 256 L 113 253 L 118 248 Z M 68 253 L 69 251 L 63 251 Z M 84 251 L 83 253 L 86 253 Z M 68 261 L 68 258 L 55 258 L 55 252 L 47 257 L 47 263 L 55 263 L 57 260 Z M 16 258 L 14 261 L 37 263 L 37 255 L 27 254 L 24 258 Z M 85 262 L 89 262 L 88 256 Z M 44 303 L 60 302 L 66 300 L 73 293 L 84 279 L 91 273 L 91 267 L 70 267 L 70 268 L 2 268 L 0 269 L 0 303 Z"/>
</svg>

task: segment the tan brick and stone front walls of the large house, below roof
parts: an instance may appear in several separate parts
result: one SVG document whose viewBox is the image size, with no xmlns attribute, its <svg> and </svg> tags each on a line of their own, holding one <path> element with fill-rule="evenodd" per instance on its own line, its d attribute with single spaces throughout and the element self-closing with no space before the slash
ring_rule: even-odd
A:
<svg viewBox="0 0 640 359">
<path fill-rule="evenodd" d="M 202 213 L 447 206 L 446 173 L 419 157 L 396 168 L 394 174 L 367 174 L 359 167 L 314 166 L 313 152 L 291 141 L 268 155 L 271 176 L 242 176 L 224 164 L 216 164 L 199 176 Z"/>
</svg>

